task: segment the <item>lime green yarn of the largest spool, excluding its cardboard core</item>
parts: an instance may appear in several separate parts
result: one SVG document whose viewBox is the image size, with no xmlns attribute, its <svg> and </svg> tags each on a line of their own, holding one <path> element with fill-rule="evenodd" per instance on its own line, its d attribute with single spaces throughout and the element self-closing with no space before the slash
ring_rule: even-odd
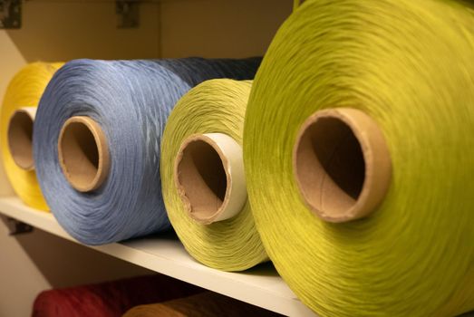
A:
<svg viewBox="0 0 474 317">
<path fill-rule="evenodd" d="M 472 61 L 474 15 L 454 1 L 307 0 L 277 32 L 247 105 L 247 191 L 268 255 L 314 312 L 474 310 Z M 392 175 L 372 213 L 334 223 L 305 201 L 294 152 L 308 118 L 342 108 L 376 123 Z"/>
</svg>

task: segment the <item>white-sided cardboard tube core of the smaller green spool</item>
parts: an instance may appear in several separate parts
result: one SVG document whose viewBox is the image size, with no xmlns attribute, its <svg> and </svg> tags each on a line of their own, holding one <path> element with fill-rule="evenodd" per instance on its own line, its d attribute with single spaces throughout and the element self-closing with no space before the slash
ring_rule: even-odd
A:
<svg viewBox="0 0 474 317">
<path fill-rule="evenodd" d="M 185 139 L 174 179 L 189 216 L 203 225 L 236 216 L 247 202 L 242 148 L 226 134 Z"/>
</svg>

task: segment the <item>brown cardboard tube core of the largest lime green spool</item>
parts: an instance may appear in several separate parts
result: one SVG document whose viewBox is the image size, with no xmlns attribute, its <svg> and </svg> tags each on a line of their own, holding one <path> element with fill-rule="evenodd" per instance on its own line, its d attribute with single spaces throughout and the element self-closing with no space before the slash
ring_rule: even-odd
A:
<svg viewBox="0 0 474 317">
<path fill-rule="evenodd" d="M 367 216 L 390 185 L 392 162 L 377 123 L 361 110 L 320 110 L 295 143 L 296 183 L 317 216 L 346 222 Z"/>
</svg>

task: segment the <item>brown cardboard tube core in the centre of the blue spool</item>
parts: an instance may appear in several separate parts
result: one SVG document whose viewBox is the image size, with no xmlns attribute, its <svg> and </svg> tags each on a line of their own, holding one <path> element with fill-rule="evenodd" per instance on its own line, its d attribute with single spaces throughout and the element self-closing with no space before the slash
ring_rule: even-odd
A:
<svg viewBox="0 0 474 317">
<path fill-rule="evenodd" d="M 109 174 L 107 139 L 99 124 L 89 117 L 72 117 L 64 122 L 58 155 L 65 178 L 78 191 L 100 187 Z"/>
</svg>

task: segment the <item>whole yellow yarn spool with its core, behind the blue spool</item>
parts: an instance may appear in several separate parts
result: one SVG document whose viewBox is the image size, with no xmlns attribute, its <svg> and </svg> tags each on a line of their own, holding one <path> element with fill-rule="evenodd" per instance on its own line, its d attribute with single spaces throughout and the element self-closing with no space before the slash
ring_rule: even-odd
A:
<svg viewBox="0 0 474 317">
<path fill-rule="evenodd" d="M 24 107 L 36 108 L 38 106 L 46 85 L 53 77 L 54 72 L 62 65 L 62 63 L 34 62 L 24 66 L 9 83 L 1 111 L 2 127 L 0 134 L 6 175 L 18 197 L 26 205 L 40 210 L 48 210 L 48 207 L 36 180 L 33 160 L 30 159 L 32 154 L 31 132 L 33 121 L 31 119 L 28 121 L 28 116 L 26 115 L 28 110 L 24 109 Z M 12 125 L 10 124 L 11 120 Z M 24 140 L 24 143 L 21 143 L 21 145 L 22 139 L 8 138 L 8 132 L 10 132 L 10 135 L 12 131 L 16 133 L 15 129 L 12 129 L 13 126 L 16 126 L 16 123 L 22 125 L 21 128 L 16 130 L 17 134 Z M 29 149 L 26 149 L 27 147 Z M 20 153 L 19 159 L 15 158 L 15 161 L 10 149 Z M 23 156 L 22 154 L 25 155 Z"/>
</svg>

